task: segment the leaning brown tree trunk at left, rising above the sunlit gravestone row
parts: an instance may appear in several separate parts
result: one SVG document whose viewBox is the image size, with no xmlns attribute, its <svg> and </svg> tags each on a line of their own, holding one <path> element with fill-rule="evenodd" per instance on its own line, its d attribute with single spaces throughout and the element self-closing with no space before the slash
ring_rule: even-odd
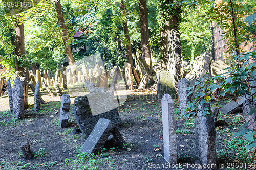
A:
<svg viewBox="0 0 256 170">
<path fill-rule="evenodd" d="M 62 39 L 65 46 L 66 55 L 69 61 L 69 66 L 71 67 L 75 64 L 75 60 L 73 58 L 73 54 L 70 46 L 69 34 L 63 18 L 60 0 L 55 2 L 55 6 L 56 6 L 57 18 L 59 21 L 59 27 L 61 28 L 61 32 L 62 32 Z"/>
</svg>

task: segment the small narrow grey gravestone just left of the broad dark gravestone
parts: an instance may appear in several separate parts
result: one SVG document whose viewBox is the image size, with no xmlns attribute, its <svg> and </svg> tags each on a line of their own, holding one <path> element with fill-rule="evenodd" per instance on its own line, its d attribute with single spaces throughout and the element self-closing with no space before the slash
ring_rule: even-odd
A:
<svg viewBox="0 0 256 170">
<path fill-rule="evenodd" d="M 62 95 L 60 113 L 59 113 L 59 126 L 60 128 L 67 128 L 69 121 L 70 109 L 70 96 L 67 94 Z"/>
</svg>

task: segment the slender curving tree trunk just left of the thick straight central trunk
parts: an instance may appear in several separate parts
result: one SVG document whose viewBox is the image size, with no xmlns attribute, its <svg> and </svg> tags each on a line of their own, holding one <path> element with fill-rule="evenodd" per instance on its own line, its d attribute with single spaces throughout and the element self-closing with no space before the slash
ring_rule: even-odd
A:
<svg viewBox="0 0 256 170">
<path fill-rule="evenodd" d="M 120 3 L 120 10 L 121 10 L 122 14 L 125 14 L 125 5 L 124 5 L 123 0 L 121 0 L 121 3 Z M 137 71 L 135 70 L 135 68 L 133 66 L 131 41 L 130 41 L 129 30 L 128 30 L 128 25 L 127 25 L 126 20 L 123 21 L 123 31 L 124 31 L 124 35 L 125 35 L 125 39 L 126 39 L 125 44 L 126 44 L 127 60 L 128 60 L 128 63 L 130 63 L 132 65 L 134 79 L 135 79 L 136 83 L 139 85 L 140 84 L 140 77 L 139 77 Z"/>
</svg>

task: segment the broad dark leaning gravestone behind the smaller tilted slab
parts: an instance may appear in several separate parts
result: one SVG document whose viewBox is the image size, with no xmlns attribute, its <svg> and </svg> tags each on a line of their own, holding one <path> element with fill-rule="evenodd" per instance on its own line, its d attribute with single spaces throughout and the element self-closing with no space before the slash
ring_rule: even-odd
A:
<svg viewBox="0 0 256 170">
<path fill-rule="evenodd" d="M 108 93 L 108 94 L 106 94 Z M 109 98 L 104 98 L 104 96 L 109 95 Z M 89 99 L 96 99 L 90 100 Z M 101 100 L 98 100 L 101 99 Z M 111 99 L 111 100 L 108 100 Z M 112 101 L 112 104 L 111 104 Z M 102 104 L 104 102 L 105 104 Z M 91 103 L 92 108 L 91 109 Z M 104 108 L 104 106 L 106 108 Z M 115 125 L 121 126 L 122 121 L 118 114 L 117 109 L 114 107 L 113 100 L 109 92 L 98 92 L 93 94 L 88 94 L 85 96 L 77 97 L 74 101 L 74 115 L 76 117 L 77 123 L 83 133 L 87 138 L 92 132 L 94 126 L 100 118 L 105 118 L 111 120 Z M 99 107 L 99 108 L 97 108 Z M 112 109 L 112 110 L 110 110 Z M 92 110 L 94 113 L 92 113 Z"/>
</svg>

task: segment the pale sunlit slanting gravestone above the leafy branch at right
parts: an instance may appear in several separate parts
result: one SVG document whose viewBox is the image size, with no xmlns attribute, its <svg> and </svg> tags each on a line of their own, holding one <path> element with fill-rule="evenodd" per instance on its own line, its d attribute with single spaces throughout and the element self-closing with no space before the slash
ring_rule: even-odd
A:
<svg viewBox="0 0 256 170">
<path fill-rule="evenodd" d="M 205 52 L 195 57 L 191 71 L 185 76 L 190 85 L 195 85 L 201 78 L 211 77 L 210 74 L 211 52 Z"/>
</svg>

